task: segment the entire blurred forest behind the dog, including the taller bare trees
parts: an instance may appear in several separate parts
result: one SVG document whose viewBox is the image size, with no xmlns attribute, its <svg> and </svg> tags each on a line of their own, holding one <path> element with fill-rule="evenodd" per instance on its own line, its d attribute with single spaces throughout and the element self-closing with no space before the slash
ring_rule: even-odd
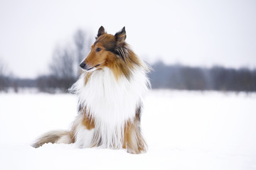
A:
<svg viewBox="0 0 256 170">
<path fill-rule="evenodd" d="M 47 93 L 67 93 L 80 75 L 79 64 L 88 54 L 93 38 L 84 30 L 77 30 L 73 46 L 55 47 L 49 74 L 36 79 L 19 79 L 7 74 L 0 61 L 0 91 L 36 89 Z M 178 89 L 198 91 L 256 91 L 256 69 L 233 69 L 221 66 L 211 68 L 188 67 L 181 64 L 166 65 L 156 62 L 149 73 L 152 89 Z"/>
</svg>

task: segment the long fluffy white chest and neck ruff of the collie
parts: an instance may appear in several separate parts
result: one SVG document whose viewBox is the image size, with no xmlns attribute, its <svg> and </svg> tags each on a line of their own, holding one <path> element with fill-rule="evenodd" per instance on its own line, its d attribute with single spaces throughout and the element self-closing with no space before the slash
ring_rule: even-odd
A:
<svg viewBox="0 0 256 170">
<path fill-rule="evenodd" d="M 86 74 L 80 76 L 71 90 L 78 95 L 79 105 L 86 109 L 87 116 L 95 120 L 92 146 L 122 148 L 125 123 L 134 120 L 136 108 L 149 87 L 146 72 L 135 67 L 131 79 L 116 79 L 112 70 L 105 67 L 92 72 L 85 84 Z"/>
</svg>

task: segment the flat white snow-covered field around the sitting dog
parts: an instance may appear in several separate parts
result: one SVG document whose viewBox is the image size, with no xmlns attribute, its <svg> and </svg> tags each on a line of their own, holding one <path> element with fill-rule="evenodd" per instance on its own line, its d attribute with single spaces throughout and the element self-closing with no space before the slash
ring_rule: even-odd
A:
<svg viewBox="0 0 256 170">
<path fill-rule="evenodd" d="M 146 154 L 30 146 L 75 118 L 70 94 L 0 94 L 0 169 L 256 169 L 256 94 L 151 91 L 142 130 Z"/>
</svg>

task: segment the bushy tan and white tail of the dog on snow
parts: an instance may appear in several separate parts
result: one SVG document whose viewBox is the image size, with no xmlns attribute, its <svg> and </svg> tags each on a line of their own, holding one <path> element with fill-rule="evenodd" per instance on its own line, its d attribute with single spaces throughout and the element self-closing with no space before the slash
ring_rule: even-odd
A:
<svg viewBox="0 0 256 170">
<path fill-rule="evenodd" d="M 43 144 L 46 143 L 65 143 L 70 144 L 74 143 L 74 135 L 73 132 L 66 131 L 66 130 L 54 130 L 47 132 L 46 134 L 42 135 L 41 137 L 36 140 L 32 147 L 41 147 Z"/>
</svg>

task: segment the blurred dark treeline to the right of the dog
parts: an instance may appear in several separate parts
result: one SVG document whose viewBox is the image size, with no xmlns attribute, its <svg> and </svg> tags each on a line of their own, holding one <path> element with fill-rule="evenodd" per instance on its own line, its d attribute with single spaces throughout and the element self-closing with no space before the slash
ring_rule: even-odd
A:
<svg viewBox="0 0 256 170">
<path fill-rule="evenodd" d="M 166 65 L 157 62 L 149 74 L 153 89 L 256 91 L 256 69 Z"/>
</svg>

